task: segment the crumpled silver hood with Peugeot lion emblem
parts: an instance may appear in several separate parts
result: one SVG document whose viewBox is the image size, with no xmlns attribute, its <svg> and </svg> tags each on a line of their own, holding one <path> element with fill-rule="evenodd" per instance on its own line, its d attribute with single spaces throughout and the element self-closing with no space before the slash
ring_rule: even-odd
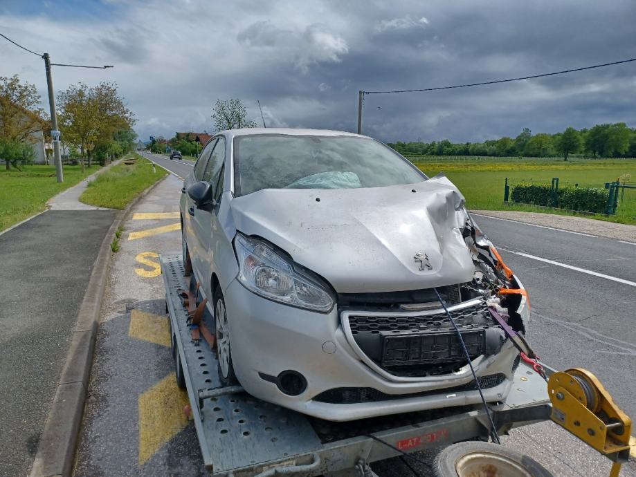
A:
<svg viewBox="0 0 636 477">
<path fill-rule="evenodd" d="M 234 198 L 230 211 L 237 230 L 278 245 L 336 292 L 367 293 L 471 281 L 463 204 L 436 176 L 369 189 L 263 189 Z M 432 270 L 419 270 L 418 253 Z"/>
</svg>

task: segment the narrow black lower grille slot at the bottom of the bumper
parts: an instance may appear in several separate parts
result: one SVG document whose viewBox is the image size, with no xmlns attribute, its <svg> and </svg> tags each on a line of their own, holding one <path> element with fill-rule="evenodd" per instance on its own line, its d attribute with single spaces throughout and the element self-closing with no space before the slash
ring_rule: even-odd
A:
<svg viewBox="0 0 636 477">
<path fill-rule="evenodd" d="M 506 380 L 506 375 L 502 373 L 480 376 L 477 378 L 481 389 L 490 389 L 499 386 Z M 381 402 L 399 400 L 407 397 L 422 397 L 439 393 L 453 393 L 462 391 L 473 391 L 477 389 L 475 382 L 471 381 L 462 386 L 452 388 L 436 389 L 435 391 L 424 391 L 412 394 L 385 394 L 373 388 L 335 388 L 323 391 L 314 397 L 314 401 L 325 402 L 327 404 L 361 404 L 363 402 Z"/>
</svg>

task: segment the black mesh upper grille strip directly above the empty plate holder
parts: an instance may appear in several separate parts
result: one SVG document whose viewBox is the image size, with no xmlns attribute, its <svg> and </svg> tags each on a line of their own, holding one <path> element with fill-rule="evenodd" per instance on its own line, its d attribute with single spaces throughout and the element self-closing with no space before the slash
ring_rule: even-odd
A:
<svg viewBox="0 0 636 477">
<path fill-rule="evenodd" d="M 486 303 L 482 301 L 475 306 L 455 310 L 451 312 L 451 315 L 457 327 L 461 328 L 462 326 L 477 324 L 475 321 L 482 321 L 480 319 L 483 319 L 487 311 Z M 404 316 L 399 313 L 373 317 L 349 315 L 349 327 L 351 328 L 351 333 L 356 335 L 358 333 L 380 333 L 381 331 L 401 333 L 404 331 L 446 330 L 448 328 L 453 329 L 453 324 L 448 319 L 446 312 L 442 310 L 442 312 L 434 315 L 416 317 Z"/>
</svg>

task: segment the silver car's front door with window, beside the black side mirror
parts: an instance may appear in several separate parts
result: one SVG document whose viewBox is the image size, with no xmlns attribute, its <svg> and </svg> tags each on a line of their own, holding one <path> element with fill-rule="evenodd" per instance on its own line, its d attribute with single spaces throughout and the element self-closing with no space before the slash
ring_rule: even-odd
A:
<svg viewBox="0 0 636 477">
<path fill-rule="evenodd" d="M 202 210 L 194 208 L 194 219 L 192 225 L 194 227 L 195 234 L 197 236 L 197 250 L 199 250 L 199 256 L 197 257 L 197 266 L 199 267 L 200 274 L 199 280 L 203 285 L 203 292 L 208 297 L 210 303 L 212 297 L 210 296 L 210 279 L 212 278 L 212 270 L 210 268 L 210 243 L 212 242 L 213 230 L 218 229 L 217 224 L 217 210 L 219 209 L 218 200 L 221 198 L 221 190 L 219 191 L 219 172 L 223 169 L 225 160 L 225 147 L 226 141 L 223 136 L 219 136 L 214 144 L 214 149 L 210 154 L 210 159 L 206 164 L 206 169 L 203 171 L 203 178 L 201 180 L 210 183 L 212 186 L 212 194 L 217 205 L 210 210 Z"/>
</svg>

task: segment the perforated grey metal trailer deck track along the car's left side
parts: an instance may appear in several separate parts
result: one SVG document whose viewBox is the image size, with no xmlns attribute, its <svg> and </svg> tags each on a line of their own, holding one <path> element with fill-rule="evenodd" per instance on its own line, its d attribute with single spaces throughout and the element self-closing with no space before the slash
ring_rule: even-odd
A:
<svg viewBox="0 0 636 477">
<path fill-rule="evenodd" d="M 205 339 L 192 342 L 181 306 L 185 290 L 181 255 L 161 256 L 161 270 L 172 328 L 178 333 L 183 371 L 203 462 L 215 474 L 316 451 L 322 445 L 300 413 L 257 400 L 247 393 L 203 400 L 198 391 L 219 387 L 217 359 Z M 207 323 L 210 330 L 213 324 Z"/>
</svg>

